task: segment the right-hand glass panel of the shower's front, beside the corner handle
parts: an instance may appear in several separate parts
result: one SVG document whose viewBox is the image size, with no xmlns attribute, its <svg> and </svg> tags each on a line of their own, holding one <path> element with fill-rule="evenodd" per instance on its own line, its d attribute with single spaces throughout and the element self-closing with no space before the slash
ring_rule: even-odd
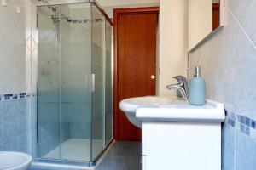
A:
<svg viewBox="0 0 256 170">
<path fill-rule="evenodd" d="M 61 5 L 61 158 L 91 161 L 90 3 Z"/>
</svg>

